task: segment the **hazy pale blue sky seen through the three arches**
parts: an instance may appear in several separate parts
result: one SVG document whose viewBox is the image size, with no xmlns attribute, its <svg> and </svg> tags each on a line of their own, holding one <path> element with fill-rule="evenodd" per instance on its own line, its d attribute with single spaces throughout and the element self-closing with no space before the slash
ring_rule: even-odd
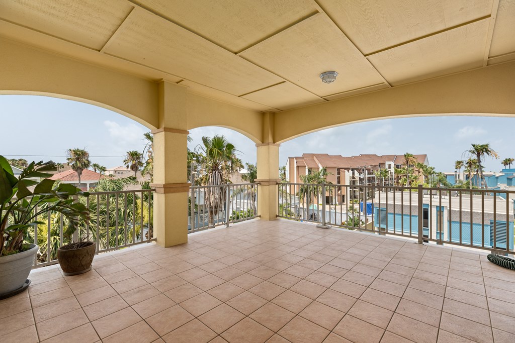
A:
<svg viewBox="0 0 515 343">
<path fill-rule="evenodd" d="M 280 114 L 279 114 L 280 115 Z M 316 120 L 316 119 L 314 119 Z M 280 165 L 303 153 L 331 155 L 427 154 L 437 171 L 453 171 L 466 159 L 471 143 L 490 143 L 500 159 L 487 158 L 485 170 L 499 171 L 501 160 L 514 157 L 515 118 L 419 117 L 369 121 L 321 130 L 284 142 Z M 7 158 L 64 162 L 66 150 L 84 148 L 92 163 L 107 168 L 123 165 L 127 151 L 143 151 L 149 130 L 118 113 L 70 100 L 42 96 L 0 95 L 0 154 Z M 244 163 L 255 163 L 255 144 L 226 128 L 190 131 L 195 149 L 202 136 L 225 135 Z"/>
</svg>

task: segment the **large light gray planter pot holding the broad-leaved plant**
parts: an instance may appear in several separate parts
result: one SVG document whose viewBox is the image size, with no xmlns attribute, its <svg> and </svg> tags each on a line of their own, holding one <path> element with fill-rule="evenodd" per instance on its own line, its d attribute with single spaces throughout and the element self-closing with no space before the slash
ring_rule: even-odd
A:
<svg viewBox="0 0 515 343">
<path fill-rule="evenodd" d="M 36 244 L 30 244 L 26 251 L 0 257 L 0 299 L 24 287 L 38 249 Z"/>
</svg>

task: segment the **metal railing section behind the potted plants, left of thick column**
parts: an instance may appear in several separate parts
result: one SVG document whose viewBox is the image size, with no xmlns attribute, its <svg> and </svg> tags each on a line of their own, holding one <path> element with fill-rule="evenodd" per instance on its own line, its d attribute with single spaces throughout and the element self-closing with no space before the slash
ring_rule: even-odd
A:
<svg viewBox="0 0 515 343">
<path fill-rule="evenodd" d="M 155 241 L 152 237 L 154 191 L 90 192 L 89 196 L 79 196 L 76 201 L 90 209 L 90 220 L 72 237 L 65 237 L 68 223 L 62 214 L 48 211 L 39 215 L 36 221 L 40 224 L 29 229 L 25 237 L 27 242 L 39 246 L 33 267 L 58 263 L 57 249 L 72 241 L 95 242 L 95 254 Z"/>
</svg>

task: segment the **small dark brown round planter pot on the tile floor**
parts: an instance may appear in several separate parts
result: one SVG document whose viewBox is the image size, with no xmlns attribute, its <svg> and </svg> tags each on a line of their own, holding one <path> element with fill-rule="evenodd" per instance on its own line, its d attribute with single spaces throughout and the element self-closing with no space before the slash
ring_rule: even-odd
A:
<svg viewBox="0 0 515 343">
<path fill-rule="evenodd" d="M 82 274 L 91 269 L 91 262 L 95 256 L 95 243 L 86 243 L 87 245 L 78 249 L 68 249 L 67 245 L 57 249 L 57 259 L 64 275 Z"/>
</svg>

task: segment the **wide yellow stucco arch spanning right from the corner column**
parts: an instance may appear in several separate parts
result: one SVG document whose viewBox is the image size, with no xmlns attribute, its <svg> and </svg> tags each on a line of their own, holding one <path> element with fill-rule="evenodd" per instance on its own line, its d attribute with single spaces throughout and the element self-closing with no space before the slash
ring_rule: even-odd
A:
<svg viewBox="0 0 515 343">
<path fill-rule="evenodd" d="M 513 80 L 515 63 L 504 63 L 285 111 L 274 117 L 274 142 L 376 119 L 449 115 L 515 118 Z"/>
</svg>

